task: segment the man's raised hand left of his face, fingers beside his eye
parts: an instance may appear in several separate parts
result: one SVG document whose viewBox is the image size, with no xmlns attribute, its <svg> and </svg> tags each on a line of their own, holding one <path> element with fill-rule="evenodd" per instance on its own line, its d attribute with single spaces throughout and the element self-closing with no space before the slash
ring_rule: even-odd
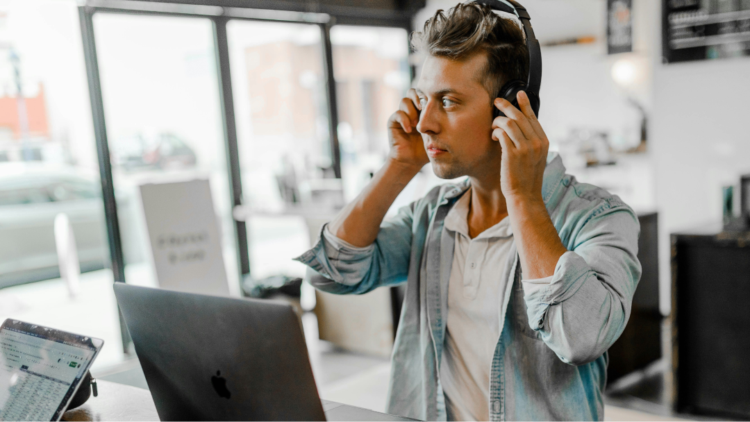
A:
<svg viewBox="0 0 750 422">
<path fill-rule="evenodd" d="M 401 100 L 398 111 L 388 119 L 391 144 L 389 160 L 413 167 L 417 171 L 430 162 L 422 142 L 422 134 L 416 129 L 421 109 L 419 97 L 414 88 L 411 88 L 407 97 Z"/>
</svg>

